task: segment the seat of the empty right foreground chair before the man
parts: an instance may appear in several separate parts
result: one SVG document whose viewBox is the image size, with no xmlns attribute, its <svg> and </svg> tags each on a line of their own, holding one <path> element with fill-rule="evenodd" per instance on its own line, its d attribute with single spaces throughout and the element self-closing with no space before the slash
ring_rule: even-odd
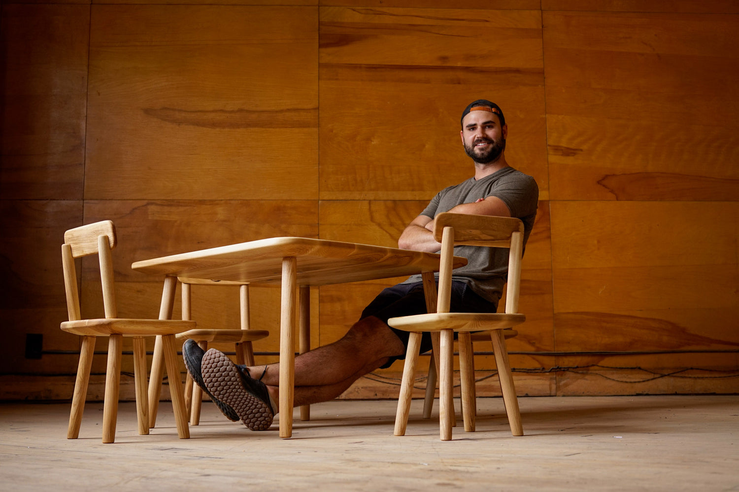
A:
<svg viewBox="0 0 739 492">
<path fill-rule="evenodd" d="M 526 320 L 525 314 L 429 313 L 391 317 L 387 324 L 403 331 L 490 331 L 511 328 Z"/>
</svg>

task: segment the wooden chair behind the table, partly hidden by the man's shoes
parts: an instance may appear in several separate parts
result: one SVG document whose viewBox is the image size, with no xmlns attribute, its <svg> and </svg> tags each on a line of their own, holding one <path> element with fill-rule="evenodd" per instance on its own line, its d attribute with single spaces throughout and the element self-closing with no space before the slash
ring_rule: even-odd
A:
<svg viewBox="0 0 739 492">
<path fill-rule="evenodd" d="M 194 284 L 208 286 L 239 286 L 239 311 L 241 314 L 241 329 L 205 329 L 196 328 L 177 334 L 177 340 L 192 339 L 203 350 L 208 350 L 208 343 L 234 343 L 236 350 L 236 364 L 254 365 L 254 351 L 252 342 L 269 336 L 267 330 L 252 330 L 249 326 L 249 286 L 248 283 L 230 282 L 228 280 L 197 280 L 179 277 L 182 284 L 182 317 L 183 320 L 192 319 L 191 286 Z M 202 389 L 193 383 L 188 374 L 185 382 L 185 405 L 190 414 L 190 424 L 200 424 L 200 405 L 202 403 Z"/>
</svg>

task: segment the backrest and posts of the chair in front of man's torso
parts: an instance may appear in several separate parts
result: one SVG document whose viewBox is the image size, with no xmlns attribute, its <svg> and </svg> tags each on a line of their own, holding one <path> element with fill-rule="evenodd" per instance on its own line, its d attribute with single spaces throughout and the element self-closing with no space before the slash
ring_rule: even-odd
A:
<svg viewBox="0 0 739 492">
<path fill-rule="evenodd" d="M 462 245 L 510 249 L 505 312 L 518 312 L 523 254 L 523 223 L 520 219 L 443 212 L 436 216 L 434 237 L 441 243 L 437 312 L 449 312 L 454 246 Z"/>
</svg>

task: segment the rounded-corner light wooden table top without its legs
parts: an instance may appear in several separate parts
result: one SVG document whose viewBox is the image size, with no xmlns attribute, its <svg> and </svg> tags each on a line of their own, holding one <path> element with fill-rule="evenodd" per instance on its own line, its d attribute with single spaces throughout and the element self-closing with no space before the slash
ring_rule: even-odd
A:
<svg viewBox="0 0 739 492">
<path fill-rule="evenodd" d="M 409 249 L 308 237 L 273 237 L 136 261 L 132 269 L 147 274 L 270 285 L 281 282 L 284 257 L 297 258 L 298 283 L 311 286 L 437 272 L 440 259 L 437 253 Z M 454 257 L 454 268 L 466 263 L 466 258 Z"/>
</svg>

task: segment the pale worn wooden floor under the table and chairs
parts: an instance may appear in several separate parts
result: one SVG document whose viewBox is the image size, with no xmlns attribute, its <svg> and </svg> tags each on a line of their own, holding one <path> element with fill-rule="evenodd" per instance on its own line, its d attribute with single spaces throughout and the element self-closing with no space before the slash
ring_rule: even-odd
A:
<svg viewBox="0 0 739 492">
<path fill-rule="evenodd" d="M 291 439 L 277 425 L 248 431 L 210 402 L 191 439 L 177 439 L 168 403 L 139 436 L 134 404 L 121 403 L 107 445 L 101 404 L 68 440 L 68 404 L 4 403 L 0 490 L 739 491 L 739 396 L 519 400 L 524 437 L 486 398 L 477 432 L 454 428 L 449 442 L 416 400 L 405 437 L 392 436 L 394 401 L 342 400 L 313 405 L 310 422 L 296 413 Z"/>
</svg>

